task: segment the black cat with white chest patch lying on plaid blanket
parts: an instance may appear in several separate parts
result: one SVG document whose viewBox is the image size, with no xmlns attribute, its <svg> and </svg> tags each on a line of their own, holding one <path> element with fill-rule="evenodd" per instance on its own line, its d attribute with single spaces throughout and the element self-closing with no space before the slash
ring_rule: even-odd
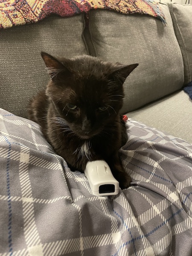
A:
<svg viewBox="0 0 192 256">
<path fill-rule="evenodd" d="M 29 104 L 29 119 L 41 125 L 55 152 L 72 171 L 83 172 L 88 161 L 105 160 L 119 186 L 130 177 L 119 159 L 126 143 L 125 123 L 119 110 L 123 83 L 138 64 L 122 65 L 83 55 L 54 58 L 42 52 L 51 77 L 46 90 Z"/>
</svg>

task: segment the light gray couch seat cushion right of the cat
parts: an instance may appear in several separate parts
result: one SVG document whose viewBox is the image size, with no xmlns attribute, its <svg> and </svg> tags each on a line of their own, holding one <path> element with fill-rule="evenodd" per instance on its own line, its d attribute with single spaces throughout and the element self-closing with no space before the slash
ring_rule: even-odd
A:
<svg viewBox="0 0 192 256">
<path fill-rule="evenodd" d="M 192 100 L 183 90 L 128 113 L 128 117 L 192 143 Z"/>
</svg>

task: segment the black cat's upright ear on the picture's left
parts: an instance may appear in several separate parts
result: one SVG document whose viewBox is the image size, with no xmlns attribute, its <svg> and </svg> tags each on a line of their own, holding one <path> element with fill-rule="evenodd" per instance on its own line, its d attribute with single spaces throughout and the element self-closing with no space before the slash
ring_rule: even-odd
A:
<svg viewBox="0 0 192 256">
<path fill-rule="evenodd" d="M 47 52 L 41 52 L 41 57 L 43 58 L 49 76 L 53 81 L 57 79 L 60 73 L 70 73 L 70 71 L 67 69 L 67 67 L 64 66 L 61 61 L 59 61 L 52 55 L 49 55 Z"/>
</svg>

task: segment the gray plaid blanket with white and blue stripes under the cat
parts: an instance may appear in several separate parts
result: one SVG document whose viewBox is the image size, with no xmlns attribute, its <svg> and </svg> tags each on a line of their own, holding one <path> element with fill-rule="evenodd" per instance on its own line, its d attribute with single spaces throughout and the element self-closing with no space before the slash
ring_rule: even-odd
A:
<svg viewBox="0 0 192 256">
<path fill-rule="evenodd" d="M 0 256 L 192 256 L 192 145 L 127 131 L 131 186 L 97 197 L 37 124 L 0 110 Z"/>
</svg>

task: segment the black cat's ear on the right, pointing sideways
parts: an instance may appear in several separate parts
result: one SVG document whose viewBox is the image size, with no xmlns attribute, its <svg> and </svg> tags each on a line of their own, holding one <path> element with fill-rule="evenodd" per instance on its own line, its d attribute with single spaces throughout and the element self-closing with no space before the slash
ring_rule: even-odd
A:
<svg viewBox="0 0 192 256">
<path fill-rule="evenodd" d="M 111 73 L 111 77 L 113 77 L 114 80 L 121 81 L 124 83 L 125 79 L 128 77 L 128 75 L 138 66 L 139 64 L 131 64 L 131 65 L 117 65 L 114 69 L 114 71 Z"/>
</svg>

